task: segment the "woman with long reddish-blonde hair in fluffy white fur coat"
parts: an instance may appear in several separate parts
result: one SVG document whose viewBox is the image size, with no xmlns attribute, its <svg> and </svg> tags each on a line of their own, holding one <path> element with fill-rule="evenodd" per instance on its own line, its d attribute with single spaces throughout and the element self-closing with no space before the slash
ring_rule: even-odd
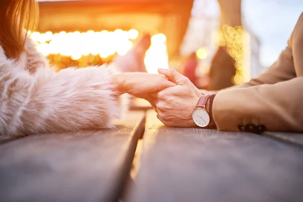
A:
<svg viewBox="0 0 303 202">
<path fill-rule="evenodd" d="M 37 18 L 35 0 L 0 1 L 0 135 L 110 127 L 121 114 L 121 94 L 148 99 L 175 85 L 164 75 L 114 74 L 105 66 L 56 72 L 28 38 Z M 138 49 L 148 46 L 146 38 Z"/>
</svg>

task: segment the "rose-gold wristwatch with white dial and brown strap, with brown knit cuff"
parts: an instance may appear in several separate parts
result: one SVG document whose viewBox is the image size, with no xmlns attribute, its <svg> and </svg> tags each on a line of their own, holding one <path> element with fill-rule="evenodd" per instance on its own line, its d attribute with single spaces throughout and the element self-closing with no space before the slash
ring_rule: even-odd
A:
<svg viewBox="0 0 303 202">
<path fill-rule="evenodd" d="M 212 113 L 212 105 L 215 96 L 216 94 L 205 94 L 199 98 L 198 103 L 192 112 L 192 120 L 197 126 L 201 128 L 217 128 Z M 208 99 L 210 99 L 210 112 L 205 109 Z"/>
</svg>

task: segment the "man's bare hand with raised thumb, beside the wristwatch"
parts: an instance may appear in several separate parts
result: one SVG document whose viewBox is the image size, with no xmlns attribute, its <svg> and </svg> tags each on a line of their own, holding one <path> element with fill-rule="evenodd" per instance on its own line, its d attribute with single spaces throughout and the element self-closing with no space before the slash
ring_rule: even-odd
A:
<svg viewBox="0 0 303 202">
<path fill-rule="evenodd" d="M 151 93 L 158 110 L 158 119 L 167 126 L 194 127 L 192 111 L 202 96 L 190 80 L 174 69 L 159 69 L 160 74 L 176 83 L 176 86 Z"/>
</svg>

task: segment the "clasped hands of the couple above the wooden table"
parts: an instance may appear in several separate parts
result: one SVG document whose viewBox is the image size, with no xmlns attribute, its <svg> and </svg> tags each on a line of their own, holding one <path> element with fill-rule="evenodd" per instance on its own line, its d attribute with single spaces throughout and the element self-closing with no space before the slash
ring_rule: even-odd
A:
<svg viewBox="0 0 303 202">
<path fill-rule="evenodd" d="M 146 99 L 157 109 L 157 117 L 165 125 L 195 127 L 192 111 L 202 96 L 199 89 L 174 69 L 158 69 L 158 72 L 117 74 L 112 77 L 112 84 L 119 94 L 129 93 Z"/>
</svg>

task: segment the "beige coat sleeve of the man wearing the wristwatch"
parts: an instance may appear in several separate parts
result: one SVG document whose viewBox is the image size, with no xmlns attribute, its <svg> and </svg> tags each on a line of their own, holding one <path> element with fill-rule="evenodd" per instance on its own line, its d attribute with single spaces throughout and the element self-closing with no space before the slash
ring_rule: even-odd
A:
<svg viewBox="0 0 303 202">
<path fill-rule="evenodd" d="M 303 131 L 303 17 L 278 61 L 248 83 L 218 92 L 213 114 L 219 130 L 263 124 L 270 131 Z"/>
</svg>

